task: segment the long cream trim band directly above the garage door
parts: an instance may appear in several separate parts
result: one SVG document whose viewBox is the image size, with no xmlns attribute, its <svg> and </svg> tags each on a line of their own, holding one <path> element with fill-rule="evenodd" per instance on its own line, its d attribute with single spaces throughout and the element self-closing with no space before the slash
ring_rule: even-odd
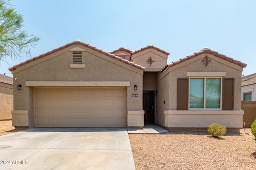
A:
<svg viewBox="0 0 256 170">
<path fill-rule="evenodd" d="M 130 81 L 26 81 L 31 87 L 129 87 Z"/>
</svg>

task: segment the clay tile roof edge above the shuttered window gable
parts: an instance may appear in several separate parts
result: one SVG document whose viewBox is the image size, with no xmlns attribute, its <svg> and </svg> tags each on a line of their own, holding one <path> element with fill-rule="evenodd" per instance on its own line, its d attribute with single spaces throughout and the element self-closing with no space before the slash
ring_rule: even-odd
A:
<svg viewBox="0 0 256 170">
<path fill-rule="evenodd" d="M 242 63 L 241 61 L 234 60 L 231 57 L 227 57 L 226 55 L 223 55 L 223 54 L 220 54 L 220 53 L 218 53 L 218 52 L 216 52 L 214 50 L 211 50 L 210 48 L 203 48 L 203 49 L 199 50 L 198 52 L 195 52 L 193 54 L 190 54 L 190 55 L 187 55 L 187 56 L 185 56 L 183 58 L 180 58 L 180 60 L 178 60 L 178 61 L 172 62 L 171 64 L 167 64 L 166 66 L 163 67 L 163 69 L 161 71 L 158 72 L 158 74 L 161 74 L 167 67 L 172 67 L 174 65 L 177 65 L 177 64 L 179 64 L 179 63 L 181 63 L 183 61 L 187 61 L 190 58 L 193 58 L 193 57 L 201 55 L 201 54 L 212 54 L 214 56 L 217 56 L 219 58 L 227 60 L 227 61 L 229 61 L 231 63 L 237 64 L 237 65 L 239 65 L 241 67 L 246 67 L 246 65 L 247 65 L 245 63 Z"/>
</svg>

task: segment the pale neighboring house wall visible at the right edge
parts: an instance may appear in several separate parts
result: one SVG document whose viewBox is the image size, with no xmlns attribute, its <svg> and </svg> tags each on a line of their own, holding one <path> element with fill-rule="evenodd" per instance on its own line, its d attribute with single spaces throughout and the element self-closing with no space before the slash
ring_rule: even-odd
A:
<svg viewBox="0 0 256 170">
<path fill-rule="evenodd" d="M 256 101 L 256 73 L 242 77 L 243 101 Z"/>
</svg>

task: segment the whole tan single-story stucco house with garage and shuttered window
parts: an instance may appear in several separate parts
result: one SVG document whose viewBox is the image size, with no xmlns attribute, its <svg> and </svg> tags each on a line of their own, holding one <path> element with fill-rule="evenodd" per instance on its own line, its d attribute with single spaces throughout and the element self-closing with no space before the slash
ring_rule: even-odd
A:
<svg viewBox="0 0 256 170">
<path fill-rule="evenodd" d="M 15 65 L 13 125 L 242 128 L 246 64 L 209 48 L 166 65 L 168 55 L 152 45 L 107 53 L 77 40 Z"/>
</svg>

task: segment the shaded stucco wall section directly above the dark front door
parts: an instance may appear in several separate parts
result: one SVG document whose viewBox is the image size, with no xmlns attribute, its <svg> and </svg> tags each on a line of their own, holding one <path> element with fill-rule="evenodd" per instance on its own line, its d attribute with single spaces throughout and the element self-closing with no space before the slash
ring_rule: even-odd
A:
<svg viewBox="0 0 256 170">
<path fill-rule="evenodd" d="M 156 90 L 156 72 L 144 72 L 143 74 L 143 90 Z"/>
</svg>

